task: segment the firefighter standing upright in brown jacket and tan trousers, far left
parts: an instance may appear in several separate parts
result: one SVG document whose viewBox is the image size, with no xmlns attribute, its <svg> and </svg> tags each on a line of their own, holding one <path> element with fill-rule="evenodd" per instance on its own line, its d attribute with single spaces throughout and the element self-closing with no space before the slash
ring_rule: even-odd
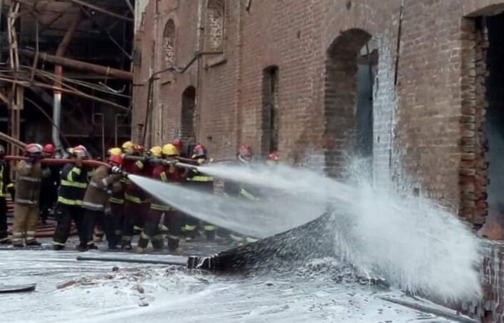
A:
<svg viewBox="0 0 504 323">
<path fill-rule="evenodd" d="M 26 233 L 27 246 L 41 245 L 35 239 L 36 223 L 39 218 L 39 197 L 41 179 L 49 176 L 49 170 L 43 170 L 40 160 L 44 158 L 42 146 L 36 143 L 26 145 L 24 155 L 16 168 L 16 198 L 14 200 L 14 225 L 12 227 L 12 245 L 24 247 Z"/>
</svg>

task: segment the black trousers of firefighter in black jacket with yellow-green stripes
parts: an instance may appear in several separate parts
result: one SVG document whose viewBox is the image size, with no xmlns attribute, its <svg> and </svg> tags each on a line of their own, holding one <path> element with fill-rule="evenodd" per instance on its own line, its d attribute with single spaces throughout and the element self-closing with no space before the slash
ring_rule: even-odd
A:
<svg viewBox="0 0 504 323">
<path fill-rule="evenodd" d="M 57 216 L 58 224 L 54 230 L 54 245 L 65 245 L 66 240 L 69 239 L 71 222 L 74 220 L 79 233 L 81 245 L 87 245 L 89 241 L 93 240 L 92 225 L 94 219 L 86 217 L 84 209 L 77 205 L 59 204 L 59 215 Z M 87 228 L 91 226 L 89 231 Z M 91 232 L 91 236 L 89 235 Z"/>
</svg>

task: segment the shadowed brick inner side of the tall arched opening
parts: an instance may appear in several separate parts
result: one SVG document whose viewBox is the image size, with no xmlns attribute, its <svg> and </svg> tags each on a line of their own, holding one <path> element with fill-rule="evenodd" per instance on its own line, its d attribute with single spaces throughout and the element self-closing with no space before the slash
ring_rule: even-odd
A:
<svg viewBox="0 0 504 323">
<path fill-rule="evenodd" d="M 347 156 L 354 155 L 358 147 L 358 134 L 361 133 L 358 118 L 359 60 L 362 49 L 371 39 L 371 34 L 363 29 L 349 29 L 336 37 L 327 50 L 323 145 L 325 171 L 331 176 L 341 177 Z M 371 53 L 368 52 L 367 56 L 371 58 Z M 371 140 L 372 114 L 371 111 Z"/>
</svg>

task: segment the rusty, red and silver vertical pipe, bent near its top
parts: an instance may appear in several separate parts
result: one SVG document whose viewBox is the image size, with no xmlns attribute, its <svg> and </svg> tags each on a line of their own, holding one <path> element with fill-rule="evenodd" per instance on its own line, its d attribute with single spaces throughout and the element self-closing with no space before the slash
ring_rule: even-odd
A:
<svg viewBox="0 0 504 323">
<path fill-rule="evenodd" d="M 63 40 L 59 44 L 58 49 L 56 50 L 56 56 L 62 57 L 65 55 L 66 48 L 69 46 L 72 36 L 74 36 L 77 27 L 81 23 L 81 19 L 82 15 L 81 12 L 79 11 L 79 14 L 77 14 L 76 19 L 74 19 L 71 22 L 69 29 L 66 31 Z M 54 80 L 54 86 L 56 86 L 56 88 L 61 88 L 61 80 L 63 78 L 63 67 L 59 65 L 54 66 L 54 74 L 56 78 Z M 52 138 L 54 147 L 56 148 L 56 151 L 62 151 L 63 145 L 61 144 L 61 140 L 59 138 L 59 129 L 61 128 L 61 91 L 59 90 L 54 90 L 53 121 L 54 125 L 52 130 Z"/>
</svg>

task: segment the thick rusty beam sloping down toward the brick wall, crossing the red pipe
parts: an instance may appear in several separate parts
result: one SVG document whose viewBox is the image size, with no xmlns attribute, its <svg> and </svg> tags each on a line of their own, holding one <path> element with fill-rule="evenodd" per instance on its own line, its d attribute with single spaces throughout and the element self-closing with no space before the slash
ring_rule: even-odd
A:
<svg viewBox="0 0 504 323">
<path fill-rule="evenodd" d="M 29 49 L 20 49 L 19 53 L 23 56 L 28 56 L 33 58 L 35 56 L 34 51 L 30 51 Z M 49 63 L 54 63 L 56 65 L 65 66 L 68 68 L 75 68 L 81 71 L 89 71 L 93 73 L 97 73 L 104 76 L 111 76 L 112 78 L 120 78 L 122 80 L 133 80 L 133 73 L 128 71 L 119 70 L 116 68 L 110 68 L 108 66 L 101 66 L 92 63 L 86 63 L 83 61 L 77 61 L 71 58 L 58 57 L 54 55 L 50 55 L 48 53 L 40 53 L 39 59 L 41 61 L 47 61 Z"/>
</svg>

